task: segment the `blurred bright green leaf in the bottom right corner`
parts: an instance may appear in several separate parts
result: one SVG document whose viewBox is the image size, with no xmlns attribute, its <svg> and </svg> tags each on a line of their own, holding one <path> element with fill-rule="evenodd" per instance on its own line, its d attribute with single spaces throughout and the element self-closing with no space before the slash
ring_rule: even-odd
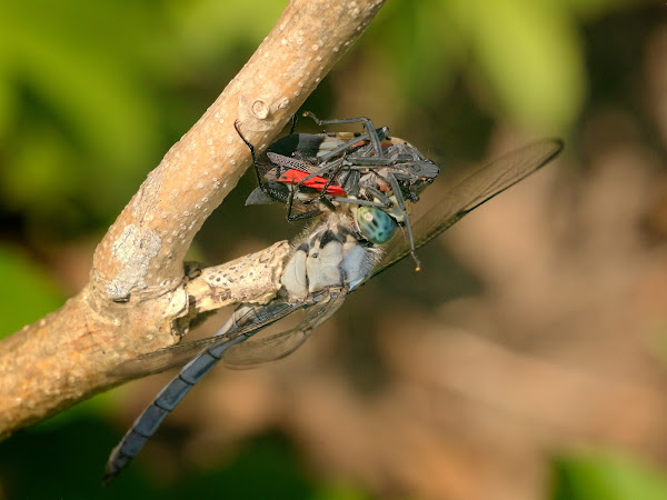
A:
<svg viewBox="0 0 667 500">
<path fill-rule="evenodd" d="M 552 500 L 667 498 L 667 474 L 619 453 L 560 458 L 554 477 Z"/>
</svg>

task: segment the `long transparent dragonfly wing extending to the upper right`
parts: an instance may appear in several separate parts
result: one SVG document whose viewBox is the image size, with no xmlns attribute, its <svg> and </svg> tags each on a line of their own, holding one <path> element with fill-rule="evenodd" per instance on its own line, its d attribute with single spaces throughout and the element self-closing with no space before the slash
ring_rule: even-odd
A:
<svg viewBox="0 0 667 500">
<path fill-rule="evenodd" d="M 532 142 L 485 164 L 454 184 L 430 211 L 411 224 L 415 248 L 426 244 L 480 204 L 547 164 L 560 153 L 563 147 L 560 139 Z M 405 238 L 394 238 L 385 247 L 385 257 L 372 276 L 409 253 L 410 248 Z"/>
</svg>

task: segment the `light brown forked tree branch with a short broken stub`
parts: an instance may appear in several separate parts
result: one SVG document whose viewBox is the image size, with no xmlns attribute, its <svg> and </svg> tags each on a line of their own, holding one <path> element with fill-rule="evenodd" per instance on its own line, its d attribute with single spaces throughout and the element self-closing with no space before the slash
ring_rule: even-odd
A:
<svg viewBox="0 0 667 500">
<path fill-rule="evenodd" d="M 382 3 L 290 1 L 111 226 L 96 249 L 90 282 L 58 311 L 0 342 L 0 438 L 121 383 L 110 374 L 116 366 L 173 344 L 198 314 L 276 293 L 285 242 L 192 280 L 183 273 L 185 254 L 250 163 L 235 120 L 259 150 L 266 148 Z M 252 279 L 235 279 L 250 270 Z"/>
</svg>

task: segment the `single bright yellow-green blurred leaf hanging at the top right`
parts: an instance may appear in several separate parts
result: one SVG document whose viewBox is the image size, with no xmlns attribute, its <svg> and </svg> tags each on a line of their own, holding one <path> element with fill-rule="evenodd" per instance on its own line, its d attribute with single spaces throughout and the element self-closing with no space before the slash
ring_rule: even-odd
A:
<svg viewBox="0 0 667 500">
<path fill-rule="evenodd" d="M 574 20 L 557 2 L 456 0 L 452 14 L 470 39 L 484 81 L 525 124 L 566 127 L 586 87 Z"/>
</svg>

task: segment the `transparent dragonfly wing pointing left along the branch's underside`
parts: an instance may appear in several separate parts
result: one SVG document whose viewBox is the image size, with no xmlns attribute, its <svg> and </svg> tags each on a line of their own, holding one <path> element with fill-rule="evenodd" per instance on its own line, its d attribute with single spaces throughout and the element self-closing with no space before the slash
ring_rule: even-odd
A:
<svg viewBox="0 0 667 500">
<path fill-rule="evenodd" d="M 141 354 L 116 367 L 112 374 L 123 378 L 143 377 L 182 367 L 211 344 L 223 344 L 239 336 L 250 337 L 306 306 L 307 303 L 302 302 L 275 302 L 261 307 L 247 307 L 242 314 L 237 314 L 237 309 L 215 336 Z"/>
</svg>

